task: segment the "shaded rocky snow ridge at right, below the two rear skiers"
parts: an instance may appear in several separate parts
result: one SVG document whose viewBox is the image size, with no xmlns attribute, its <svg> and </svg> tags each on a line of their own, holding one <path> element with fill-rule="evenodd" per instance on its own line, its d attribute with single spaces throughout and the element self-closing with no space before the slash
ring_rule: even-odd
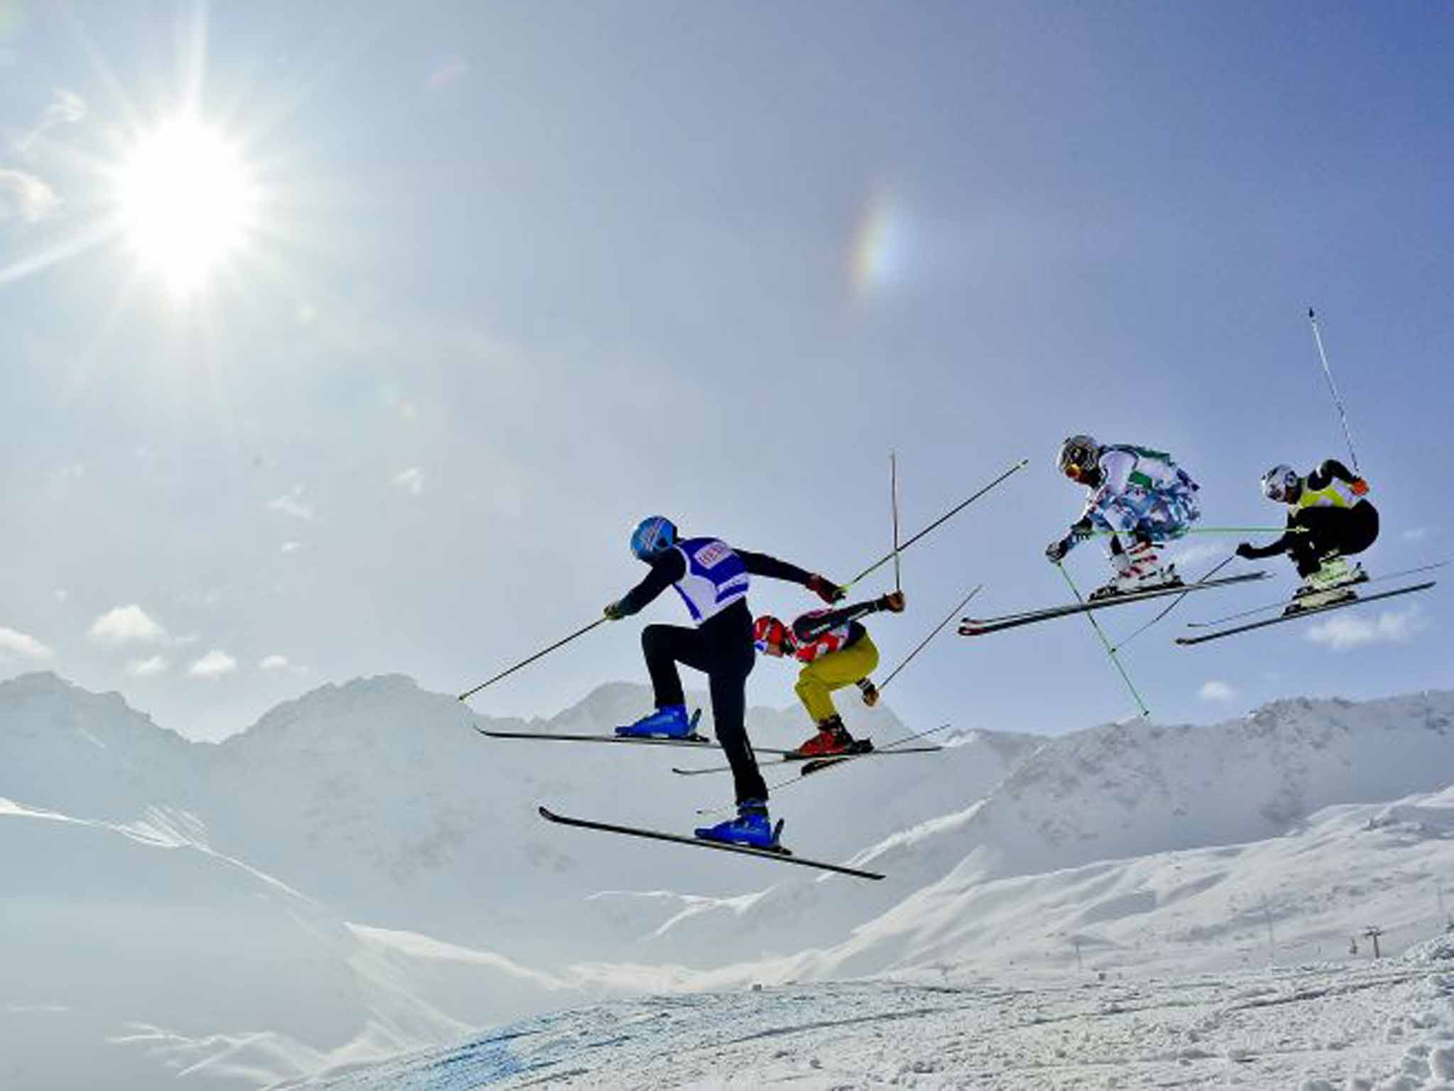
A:
<svg viewBox="0 0 1454 1091">
<path fill-rule="evenodd" d="M 1442 788 L 1451 755 L 1454 694 L 1444 692 L 1278 701 L 1205 727 L 1104 724 L 1045 740 L 983 800 L 856 854 L 888 880 L 852 902 L 838 898 L 840 880 L 778 886 L 750 908 L 698 902 L 656 950 L 692 966 L 784 954 L 803 919 L 817 946 L 833 946 L 945 877 L 973 886 L 1278 836 L 1319 807 Z"/>
</svg>

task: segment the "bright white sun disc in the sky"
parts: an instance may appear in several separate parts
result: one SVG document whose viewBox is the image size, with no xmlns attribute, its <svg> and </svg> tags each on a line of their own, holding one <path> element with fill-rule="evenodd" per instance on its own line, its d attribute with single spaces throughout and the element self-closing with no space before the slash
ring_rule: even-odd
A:
<svg viewBox="0 0 1454 1091">
<path fill-rule="evenodd" d="M 116 180 L 126 241 L 177 298 L 202 288 L 254 225 L 257 193 L 247 164 L 196 118 L 142 134 Z"/>
</svg>

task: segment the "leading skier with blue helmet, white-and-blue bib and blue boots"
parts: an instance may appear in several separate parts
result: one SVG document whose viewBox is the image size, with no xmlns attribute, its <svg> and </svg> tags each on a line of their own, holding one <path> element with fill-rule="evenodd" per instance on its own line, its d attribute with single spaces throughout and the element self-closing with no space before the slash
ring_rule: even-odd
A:
<svg viewBox="0 0 1454 1091">
<path fill-rule="evenodd" d="M 737 793 L 737 818 L 715 826 L 701 826 L 696 836 L 756 848 L 776 847 L 776 831 L 768 818 L 768 786 L 758 770 L 744 723 L 747 675 L 756 660 L 752 612 L 747 610 L 750 576 L 801 583 L 824 602 L 843 598 L 842 589 L 795 564 L 762 553 L 734 550 L 718 538 L 680 538 L 670 519 L 653 515 L 631 534 L 631 553 L 651 566 L 646 579 L 618 601 L 606 605 L 612 621 L 638 612 L 667 588 L 675 588 L 696 623 L 647 626 L 641 650 L 656 691 L 656 711 L 618 727 L 624 736 L 682 739 L 691 735 L 686 697 L 676 665 L 702 671 L 712 700 L 712 723 L 731 765 Z"/>
</svg>

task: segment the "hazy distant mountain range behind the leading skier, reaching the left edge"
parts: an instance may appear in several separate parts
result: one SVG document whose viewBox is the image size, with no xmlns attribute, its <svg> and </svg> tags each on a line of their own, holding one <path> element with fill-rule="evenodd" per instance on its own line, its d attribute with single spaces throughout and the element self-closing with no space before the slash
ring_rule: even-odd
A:
<svg viewBox="0 0 1454 1091">
<path fill-rule="evenodd" d="M 97 723 L 81 723 L 96 704 L 112 707 L 116 723 L 99 714 Z M 220 851 L 343 916 L 558 964 L 634 941 L 679 908 L 669 895 L 628 898 L 608 911 L 585 900 L 592 893 L 736 896 L 810 882 L 717 854 L 663 855 L 640 845 L 602 851 L 535 813 L 545 802 L 691 829 L 702 820 L 698 807 L 731 799 L 730 780 L 676 777 L 669 768 L 720 762 L 715 751 L 505 742 L 471 730 L 478 722 L 609 733 L 647 704 L 643 687 L 616 684 L 551 720 L 491 722 L 452 697 L 382 676 L 321 687 L 243 735 L 205 745 L 157 729 L 119 698 L 31 675 L 0 685 L 0 794 L 100 818 L 164 803 L 196 815 Z M 881 742 L 907 733 L 884 708 L 855 711 L 856 729 Z M 749 722 L 765 745 L 806 735 L 800 710 L 755 708 Z M 108 745 L 92 743 L 93 736 Z M 958 742 L 944 755 L 872 759 L 784 790 L 775 806 L 790 841 L 813 854 L 848 855 L 888 831 L 964 806 L 1038 743 L 993 733 Z M 790 775 L 776 770 L 772 780 Z M 89 803 L 92 793 L 103 806 Z"/>
</svg>

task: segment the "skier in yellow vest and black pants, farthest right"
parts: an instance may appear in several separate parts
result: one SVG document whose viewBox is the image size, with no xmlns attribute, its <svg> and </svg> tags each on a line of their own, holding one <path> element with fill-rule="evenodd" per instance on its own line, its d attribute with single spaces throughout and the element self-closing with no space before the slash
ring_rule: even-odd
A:
<svg viewBox="0 0 1454 1091">
<path fill-rule="evenodd" d="M 1258 560 L 1287 553 L 1293 559 L 1303 585 L 1290 610 L 1352 598 L 1348 588 L 1368 573 L 1343 557 L 1362 553 L 1378 537 L 1378 509 L 1365 499 L 1368 481 L 1329 458 L 1307 477 L 1290 465 L 1274 465 L 1262 474 L 1262 495 L 1287 505 L 1287 532 L 1266 546 L 1245 541 L 1237 556 Z"/>
</svg>

